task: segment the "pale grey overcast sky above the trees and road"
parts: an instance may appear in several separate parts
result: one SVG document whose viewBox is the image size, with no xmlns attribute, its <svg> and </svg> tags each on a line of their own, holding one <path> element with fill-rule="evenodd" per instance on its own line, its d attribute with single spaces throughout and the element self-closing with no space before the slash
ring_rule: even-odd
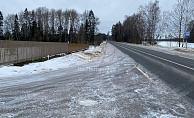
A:
<svg viewBox="0 0 194 118">
<path fill-rule="evenodd" d="M 1 0 L 0 11 L 4 17 L 16 14 L 25 8 L 33 10 L 38 7 L 49 9 L 75 9 L 78 13 L 93 10 L 100 18 L 99 32 L 107 33 L 118 21 L 123 22 L 125 15 L 136 13 L 140 5 L 155 0 Z M 171 10 L 176 0 L 159 0 L 162 11 Z"/>
</svg>

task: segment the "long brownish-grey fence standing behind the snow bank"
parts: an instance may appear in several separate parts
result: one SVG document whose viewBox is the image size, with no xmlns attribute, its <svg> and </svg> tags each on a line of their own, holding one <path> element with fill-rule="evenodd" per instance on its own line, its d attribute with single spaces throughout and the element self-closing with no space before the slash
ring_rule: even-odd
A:
<svg viewBox="0 0 194 118">
<path fill-rule="evenodd" d="M 88 44 L 0 40 L 0 65 L 39 59 L 88 47 Z"/>
</svg>

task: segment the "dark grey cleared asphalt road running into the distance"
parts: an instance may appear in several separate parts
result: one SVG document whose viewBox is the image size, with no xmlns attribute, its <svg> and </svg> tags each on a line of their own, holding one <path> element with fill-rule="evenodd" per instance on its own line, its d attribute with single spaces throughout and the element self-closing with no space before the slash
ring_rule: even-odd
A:
<svg viewBox="0 0 194 118">
<path fill-rule="evenodd" d="M 124 43 L 109 43 L 143 65 L 170 88 L 194 104 L 194 59 Z"/>
</svg>

